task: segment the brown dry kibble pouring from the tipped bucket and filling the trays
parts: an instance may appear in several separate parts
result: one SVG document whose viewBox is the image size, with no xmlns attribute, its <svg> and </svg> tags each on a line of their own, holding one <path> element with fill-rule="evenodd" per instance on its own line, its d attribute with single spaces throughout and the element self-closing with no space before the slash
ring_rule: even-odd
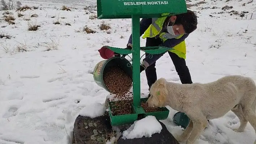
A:
<svg viewBox="0 0 256 144">
<path fill-rule="evenodd" d="M 103 81 L 110 93 L 115 94 L 115 101 L 111 107 L 112 115 L 132 114 L 132 79 L 119 67 L 113 66 L 103 75 Z M 146 113 L 157 112 L 160 108 L 150 108 L 148 104 L 141 102 L 142 108 Z"/>
</svg>

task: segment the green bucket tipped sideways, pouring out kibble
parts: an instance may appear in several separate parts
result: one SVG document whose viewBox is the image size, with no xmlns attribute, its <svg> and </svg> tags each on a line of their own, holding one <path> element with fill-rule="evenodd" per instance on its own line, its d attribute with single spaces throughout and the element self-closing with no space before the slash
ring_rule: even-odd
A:
<svg viewBox="0 0 256 144">
<path fill-rule="evenodd" d="M 126 58 L 112 57 L 107 60 L 100 61 L 93 70 L 93 79 L 98 86 L 110 92 L 104 84 L 103 75 L 110 70 L 112 66 L 118 66 L 132 79 L 132 65 Z"/>
</svg>

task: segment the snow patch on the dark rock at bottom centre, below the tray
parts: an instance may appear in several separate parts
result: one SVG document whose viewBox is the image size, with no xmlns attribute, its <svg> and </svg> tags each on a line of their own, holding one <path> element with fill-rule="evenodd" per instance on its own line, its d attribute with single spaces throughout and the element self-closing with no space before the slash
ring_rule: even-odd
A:
<svg viewBox="0 0 256 144">
<path fill-rule="evenodd" d="M 131 127 L 123 132 L 123 139 L 134 139 L 152 137 L 155 133 L 160 133 L 162 130 L 161 124 L 157 121 L 155 116 L 148 115 L 147 117 L 135 121 Z"/>
</svg>

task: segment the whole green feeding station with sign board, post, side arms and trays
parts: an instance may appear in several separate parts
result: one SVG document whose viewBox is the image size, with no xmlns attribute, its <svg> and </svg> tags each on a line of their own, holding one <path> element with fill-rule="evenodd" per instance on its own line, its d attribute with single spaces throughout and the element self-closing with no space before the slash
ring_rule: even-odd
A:
<svg viewBox="0 0 256 144">
<path fill-rule="evenodd" d="M 133 113 L 113 116 L 111 113 L 111 102 L 108 102 L 112 126 L 132 123 L 138 119 L 138 116 L 146 117 L 148 115 L 154 115 L 158 120 L 168 117 L 169 110 L 166 107 L 163 107 L 159 112 L 150 113 L 146 113 L 141 107 L 141 101 L 146 101 L 148 98 L 141 99 L 140 95 L 140 51 L 149 54 L 159 54 L 172 48 L 140 47 L 140 18 L 158 18 L 166 13 L 175 15 L 186 12 L 187 6 L 185 0 L 97 0 L 98 19 L 132 18 L 133 48 L 129 50 L 106 46 L 119 54 L 132 53 Z"/>
</svg>

